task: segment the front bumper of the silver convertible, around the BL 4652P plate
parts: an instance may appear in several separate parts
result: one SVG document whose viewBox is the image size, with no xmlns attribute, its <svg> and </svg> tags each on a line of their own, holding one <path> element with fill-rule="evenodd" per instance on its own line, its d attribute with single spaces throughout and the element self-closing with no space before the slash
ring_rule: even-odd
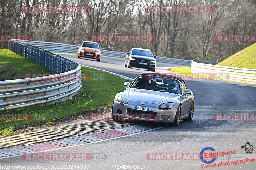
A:
<svg viewBox="0 0 256 170">
<path fill-rule="evenodd" d="M 135 110 L 136 106 L 149 107 L 149 111 Z M 144 103 L 132 101 L 128 104 L 120 104 L 117 100 L 113 103 L 113 115 L 123 117 L 125 120 L 131 121 L 153 121 L 153 122 L 169 122 L 172 123 L 175 120 L 177 107 L 163 110 L 158 107 L 160 104 Z"/>
</svg>

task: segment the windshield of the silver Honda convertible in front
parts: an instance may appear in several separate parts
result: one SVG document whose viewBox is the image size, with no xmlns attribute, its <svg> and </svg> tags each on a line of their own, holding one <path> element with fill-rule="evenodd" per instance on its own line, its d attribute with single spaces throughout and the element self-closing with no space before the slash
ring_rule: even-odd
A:
<svg viewBox="0 0 256 170">
<path fill-rule="evenodd" d="M 134 81 L 130 88 L 180 94 L 179 82 L 177 80 L 172 80 L 170 78 L 140 76 Z"/>
</svg>

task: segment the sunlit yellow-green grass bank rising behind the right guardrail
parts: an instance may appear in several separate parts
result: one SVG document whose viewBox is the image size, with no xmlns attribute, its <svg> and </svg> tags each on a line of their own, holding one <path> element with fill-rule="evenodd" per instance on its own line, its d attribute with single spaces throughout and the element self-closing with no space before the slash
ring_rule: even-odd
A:
<svg viewBox="0 0 256 170">
<path fill-rule="evenodd" d="M 256 69 L 256 43 L 231 55 L 217 65 Z"/>
</svg>

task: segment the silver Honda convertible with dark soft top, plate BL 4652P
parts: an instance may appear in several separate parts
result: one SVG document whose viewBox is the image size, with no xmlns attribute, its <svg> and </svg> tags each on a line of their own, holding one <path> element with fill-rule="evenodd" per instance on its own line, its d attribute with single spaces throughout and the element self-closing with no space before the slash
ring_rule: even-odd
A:
<svg viewBox="0 0 256 170">
<path fill-rule="evenodd" d="M 142 73 L 126 90 L 117 93 L 112 107 L 115 121 L 168 122 L 178 126 L 180 120 L 192 120 L 194 95 L 182 78 L 170 74 Z"/>
</svg>

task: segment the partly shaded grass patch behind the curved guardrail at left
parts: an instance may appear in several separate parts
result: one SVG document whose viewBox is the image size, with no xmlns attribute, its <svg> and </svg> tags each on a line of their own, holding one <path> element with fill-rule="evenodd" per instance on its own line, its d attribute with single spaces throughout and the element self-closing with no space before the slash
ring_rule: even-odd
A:
<svg viewBox="0 0 256 170">
<path fill-rule="evenodd" d="M 21 79 L 22 74 L 49 74 L 49 70 L 8 49 L 0 49 L 0 81 Z"/>
</svg>

